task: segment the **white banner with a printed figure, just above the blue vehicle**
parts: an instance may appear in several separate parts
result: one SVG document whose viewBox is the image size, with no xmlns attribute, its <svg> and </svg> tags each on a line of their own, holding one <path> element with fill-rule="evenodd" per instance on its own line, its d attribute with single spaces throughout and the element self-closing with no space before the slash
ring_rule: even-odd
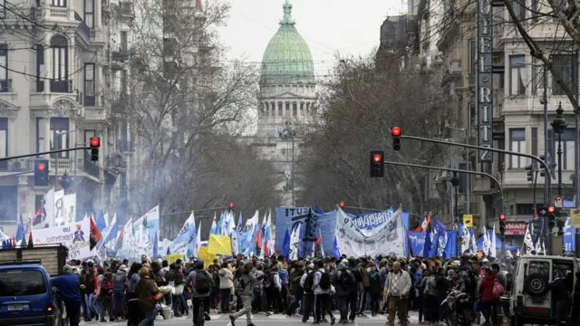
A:
<svg viewBox="0 0 580 326">
<path fill-rule="evenodd" d="M 33 230 L 34 245 L 66 245 L 69 248 L 68 260 L 91 257 L 89 235 L 91 235 L 89 219 L 70 225 Z"/>
</svg>

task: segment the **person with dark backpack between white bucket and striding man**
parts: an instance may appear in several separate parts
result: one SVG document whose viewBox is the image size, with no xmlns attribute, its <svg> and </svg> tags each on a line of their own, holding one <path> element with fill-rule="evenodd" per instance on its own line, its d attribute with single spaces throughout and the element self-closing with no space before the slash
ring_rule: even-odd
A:
<svg viewBox="0 0 580 326">
<path fill-rule="evenodd" d="M 203 261 L 198 259 L 193 264 L 193 270 L 188 275 L 188 284 L 191 286 L 191 298 L 193 301 L 193 324 L 198 324 L 199 304 L 203 302 L 204 318 L 211 321 L 209 317 L 209 294 L 214 286 L 214 280 L 208 271 L 203 269 Z"/>
</svg>

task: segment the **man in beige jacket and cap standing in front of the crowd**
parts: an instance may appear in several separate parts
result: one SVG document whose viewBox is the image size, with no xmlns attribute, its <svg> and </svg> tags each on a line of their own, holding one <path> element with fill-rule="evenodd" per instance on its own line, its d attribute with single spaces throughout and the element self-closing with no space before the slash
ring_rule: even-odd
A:
<svg viewBox="0 0 580 326">
<path fill-rule="evenodd" d="M 394 326 L 396 312 L 399 312 L 401 326 L 409 324 L 407 319 L 407 298 L 409 298 L 411 286 L 411 275 L 401 271 L 401 263 L 394 262 L 392 264 L 392 273 L 389 273 L 384 285 L 385 297 L 387 302 L 389 302 L 389 326 Z"/>
</svg>

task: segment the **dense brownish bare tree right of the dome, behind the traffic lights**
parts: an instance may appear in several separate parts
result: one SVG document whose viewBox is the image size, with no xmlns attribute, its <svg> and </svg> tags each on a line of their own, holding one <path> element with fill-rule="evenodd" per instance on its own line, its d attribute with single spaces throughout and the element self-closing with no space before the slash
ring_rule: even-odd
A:
<svg viewBox="0 0 580 326">
<path fill-rule="evenodd" d="M 384 58 L 383 58 L 384 59 Z M 402 204 L 421 214 L 428 173 L 417 168 L 385 167 L 382 179 L 369 177 L 369 150 L 385 150 L 391 161 L 444 165 L 447 150 L 404 141 L 391 149 L 391 128 L 403 133 L 444 138 L 446 121 L 454 120 L 446 74 L 403 69 L 401 58 L 381 62 L 342 60 L 324 83 L 320 115 L 314 121 L 300 158 L 301 185 L 309 205 L 384 208 Z"/>
</svg>

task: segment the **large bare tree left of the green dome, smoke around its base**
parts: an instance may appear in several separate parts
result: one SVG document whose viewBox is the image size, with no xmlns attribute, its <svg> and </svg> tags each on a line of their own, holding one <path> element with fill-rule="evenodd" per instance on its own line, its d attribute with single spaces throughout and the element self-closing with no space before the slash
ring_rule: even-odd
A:
<svg viewBox="0 0 580 326">
<path fill-rule="evenodd" d="M 239 133 L 247 108 L 256 107 L 256 67 L 224 59 L 216 27 L 225 23 L 229 8 L 220 1 L 201 9 L 141 0 L 135 8 L 140 19 L 128 51 L 130 88 L 121 91 L 113 111 L 129 121 L 140 143 L 133 198 L 141 212 L 157 204 L 165 212 L 225 206 L 231 194 L 251 187 L 237 180 L 263 169 L 251 164 L 256 156 L 232 137 L 232 125 Z M 214 159 L 224 150 L 227 159 Z M 265 198 L 256 191 L 244 200 L 264 206 Z"/>
</svg>

